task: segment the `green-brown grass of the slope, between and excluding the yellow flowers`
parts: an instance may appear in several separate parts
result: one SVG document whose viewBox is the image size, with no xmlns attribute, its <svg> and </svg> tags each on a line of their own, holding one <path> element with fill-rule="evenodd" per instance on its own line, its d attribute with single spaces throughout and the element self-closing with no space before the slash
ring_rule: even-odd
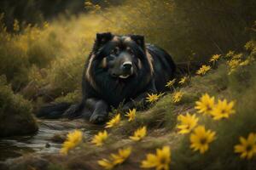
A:
<svg viewBox="0 0 256 170">
<path fill-rule="evenodd" d="M 247 57 L 255 59 L 255 54 L 251 52 Z M 173 94 L 167 93 L 147 111 L 137 112 L 135 121 L 128 122 L 127 118 L 122 117 L 119 127 L 108 129 L 109 137 L 102 147 L 96 147 L 87 141 L 71 150 L 67 156 L 43 156 L 51 162 L 49 169 L 99 169 L 101 167 L 97 164 L 98 160 L 108 158 L 119 148 L 128 146 L 132 147 L 131 156 L 115 169 L 139 169 L 146 155 L 154 153 L 156 148 L 163 145 L 171 146 L 172 169 L 253 169 L 255 156 L 251 160 L 241 159 L 239 154 L 234 153 L 234 146 L 239 144 L 239 137 L 255 133 L 256 63 L 252 61 L 248 65 L 238 66 L 229 75 L 226 62 L 223 56 L 218 67 L 206 76 L 192 76 L 187 85 L 176 87 L 183 91 L 183 98 L 179 103 L 173 103 Z M 189 148 L 189 134 L 178 134 L 176 126 L 177 116 L 187 111 L 195 113 L 195 101 L 205 93 L 216 99 L 235 100 L 236 113 L 219 121 L 213 120 L 211 116 L 196 114 L 200 125 L 216 132 L 216 139 L 209 144 L 209 150 L 200 154 Z M 140 142 L 129 139 L 142 126 L 148 127 L 147 136 Z"/>
</svg>

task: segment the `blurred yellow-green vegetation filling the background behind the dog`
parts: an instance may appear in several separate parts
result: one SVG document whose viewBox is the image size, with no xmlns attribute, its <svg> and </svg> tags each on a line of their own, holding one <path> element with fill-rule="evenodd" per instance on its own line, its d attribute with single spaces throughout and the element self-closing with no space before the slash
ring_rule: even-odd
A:
<svg viewBox="0 0 256 170">
<path fill-rule="evenodd" d="M 255 37 L 253 0 L 0 2 L 0 75 L 34 104 L 80 98 L 96 32 L 142 34 L 176 62 L 205 63 Z"/>
</svg>

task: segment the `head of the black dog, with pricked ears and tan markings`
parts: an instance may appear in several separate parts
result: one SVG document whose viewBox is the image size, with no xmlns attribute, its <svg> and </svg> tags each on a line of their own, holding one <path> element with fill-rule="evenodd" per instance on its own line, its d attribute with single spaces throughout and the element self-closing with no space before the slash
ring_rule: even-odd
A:
<svg viewBox="0 0 256 170">
<path fill-rule="evenodd" d="M 114 36 L 110 32 L 98 33 L 93 51 L 95 60 L 98 61 L 97 67 L 107 71 L 113 78 L 128 79 L 151 64 L 146 54 L 144 37 L 139 35 Z M 150 65 L 148 69 L 150 70 Z"/>
</svg>

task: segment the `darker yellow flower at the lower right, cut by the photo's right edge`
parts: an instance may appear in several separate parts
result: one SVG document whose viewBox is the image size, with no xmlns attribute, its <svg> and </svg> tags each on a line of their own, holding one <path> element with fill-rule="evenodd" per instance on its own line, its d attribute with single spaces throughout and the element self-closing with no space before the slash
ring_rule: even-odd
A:
<svg viewBox="0 0 256 170">
<path fill-rule="evenodd" d="M 256 134 L 249 133 L 247 139 L 240 137 L 240 143 L 236 144 L 234 150 L 236 153 L 241 153 L 241 158 L 251 159 L 256 155 Z"/>
</svg>

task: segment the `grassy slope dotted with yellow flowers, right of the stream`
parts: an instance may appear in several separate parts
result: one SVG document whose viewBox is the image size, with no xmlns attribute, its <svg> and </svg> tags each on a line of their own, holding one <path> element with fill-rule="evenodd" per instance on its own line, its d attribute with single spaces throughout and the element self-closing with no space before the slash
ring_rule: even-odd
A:
<svg viewBox="0 0 256 170">
<path fill-rule="evenodd" d="M 246 48 L 248 55 L 215 54 L 195 76 L 170 80 L 174 93 L 148 94 L 148 111 L 113 112 L 91 142 L 78 130 L 69 133 L 59 168 L 253 169 L 255 42 Z"/>
</svg>

